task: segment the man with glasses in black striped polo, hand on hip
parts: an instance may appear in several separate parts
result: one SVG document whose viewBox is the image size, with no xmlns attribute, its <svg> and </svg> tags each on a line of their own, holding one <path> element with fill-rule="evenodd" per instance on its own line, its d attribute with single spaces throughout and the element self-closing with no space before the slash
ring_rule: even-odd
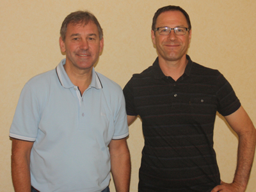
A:
<svg viewBox="0 0 256 192">
<path fill-rule="evenodd" d="M 179 6 L 157 10 L 151 35 L 156 61 L 124 88 L 128 124 L 140 115 L 145 137 L 139 191 L 244 191 L 256 131 L 232 86 L 218 70 L 186 55 L 191 24 Z M 231 184 L 220 180 L 213 149 L 216 111 L 239 136 Z"/>
</svg>

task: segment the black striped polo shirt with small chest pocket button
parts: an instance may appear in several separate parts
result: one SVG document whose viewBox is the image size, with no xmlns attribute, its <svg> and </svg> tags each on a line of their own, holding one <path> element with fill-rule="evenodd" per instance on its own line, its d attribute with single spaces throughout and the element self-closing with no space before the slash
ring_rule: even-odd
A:
<svg viewBox="0 0 256 192">
<path fill-rule="evenodd" d="M 139 191 L 208 191 L 220 184 L 213 149 L 216 111 L 241 106 L 218 71 L 191 61 L 174 81 L 158 58 L 124 88 L 127 115 L 140 115 L 145 138 Z"/>
</svg>

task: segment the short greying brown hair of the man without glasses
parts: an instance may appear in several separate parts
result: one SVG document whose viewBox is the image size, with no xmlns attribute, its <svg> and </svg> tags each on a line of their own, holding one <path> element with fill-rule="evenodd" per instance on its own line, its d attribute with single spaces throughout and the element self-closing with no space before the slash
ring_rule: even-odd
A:
<svg viewBox="0 0 256 192">
<path fill-rule="evenodd" d="M 98 31 L 99 31 L 99 37 L 100 40 L 103 37 L 103 31 L 102 28 L 100 27 L 99 21 L 96 19 L 96 17 L 90 13 L 90 12 L 83 12 L 83 11 L 77 11 L 70 13 L 62 22 L 61 28 L 60 28 L 60 36 L 63 41 L 65 41 L 66 38 L 66 33 L 67 33 L 67 26 L 68 24 L 88 24 L 88 22 L 93 22 L 96 24 Z"/>
</svg>

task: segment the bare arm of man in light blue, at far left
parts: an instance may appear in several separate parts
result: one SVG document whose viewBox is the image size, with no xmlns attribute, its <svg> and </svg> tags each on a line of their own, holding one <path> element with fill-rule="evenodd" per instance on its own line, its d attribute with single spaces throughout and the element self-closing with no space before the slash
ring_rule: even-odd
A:
<svg viewBox="0 0 256 192">
<path fill-rule="evenodd" d="M 34 142 L 12 138 L 12 181 L 15 192 L 30 192 L 30 152 Z"/>
</svg>

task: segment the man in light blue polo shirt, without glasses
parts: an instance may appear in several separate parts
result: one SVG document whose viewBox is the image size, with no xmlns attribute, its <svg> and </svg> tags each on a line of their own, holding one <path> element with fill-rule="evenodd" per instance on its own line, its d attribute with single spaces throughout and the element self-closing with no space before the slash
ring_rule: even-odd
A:
<svg viewBox="0 0 256 192">
<path fill-rule="evenodd" d="M 16 192 L 129 191 L 131 163 L 122 89 L 95 72 L 103 33 L 89 12 L 70 13 L 61 26 L 66 53 L 56 69 L 25 84 L 13 123 Z"/>
</svg>

